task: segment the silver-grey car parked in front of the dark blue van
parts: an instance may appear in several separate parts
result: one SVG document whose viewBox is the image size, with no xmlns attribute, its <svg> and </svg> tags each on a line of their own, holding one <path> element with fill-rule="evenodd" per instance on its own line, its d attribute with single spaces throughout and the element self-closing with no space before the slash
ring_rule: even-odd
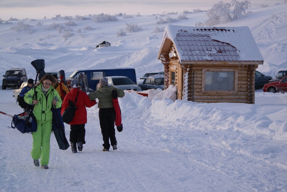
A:
<svg viewBox="0 0 287 192">
<path fill-rule="evenodd" d="M 123 90 L 141 91 L 141 88 L 126 76 L 109 76 L 108 83 Z"/>
</svg>

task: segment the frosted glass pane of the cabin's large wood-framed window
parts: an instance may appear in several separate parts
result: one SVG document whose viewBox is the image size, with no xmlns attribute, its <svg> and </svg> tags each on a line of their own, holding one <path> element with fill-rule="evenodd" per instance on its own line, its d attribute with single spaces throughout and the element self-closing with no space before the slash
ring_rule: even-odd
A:
<svg viewBox="0 0 287 192">
<path fill-rule="evenodd" d="M 231 91 L 234 90 L 234 71 L 206 71 L 206 91 Z"/>
</svg>

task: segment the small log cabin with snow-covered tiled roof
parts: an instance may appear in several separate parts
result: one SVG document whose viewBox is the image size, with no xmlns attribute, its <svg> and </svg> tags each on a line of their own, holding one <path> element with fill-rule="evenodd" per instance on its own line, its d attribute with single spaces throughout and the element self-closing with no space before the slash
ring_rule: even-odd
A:
<svg viewBox="0 0 287 192">
<path fill-rule="evenodd" d="M 168 25 L 157 57 L 164 88 L 176 86 L 177 99 L 254 104 L 255 70 L 263 57 L 248 27 Z"/>
</svg>

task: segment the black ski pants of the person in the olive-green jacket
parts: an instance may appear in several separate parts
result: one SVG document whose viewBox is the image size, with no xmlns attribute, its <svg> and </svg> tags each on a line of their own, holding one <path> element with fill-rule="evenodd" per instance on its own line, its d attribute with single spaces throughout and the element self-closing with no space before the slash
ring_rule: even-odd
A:
<svg viewBox="0 0 287 192">
<path fill-rule="evenodd" d="M 115 137 L 114 121 L 116 119 L 116 113 L 114 108 L 100 108 L 99 109 L 99 120 L 103 136 L 103 147 L 110 149 L 110 144 L 117 145 Z M 110 139 L 110 143 L 109 143 Z"/>
</svg>

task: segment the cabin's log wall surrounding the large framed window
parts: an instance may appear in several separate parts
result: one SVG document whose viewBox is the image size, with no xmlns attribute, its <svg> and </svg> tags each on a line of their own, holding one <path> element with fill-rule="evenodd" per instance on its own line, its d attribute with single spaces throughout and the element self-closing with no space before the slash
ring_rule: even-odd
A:
<svg viewBox="0 0 287 192">
<path fill-rule="evenodd" d="M 220 64 L 187 64 L 181 66 L 183 73 L 188 72 L 187 94 L 188 99 L 192 100 L 193 96 L 193 71 L 194 71 L 194 101 L 205 103 L 249 103 L 254 104 L 254 84 L 255 67 L 254 65 L 220 65 Z M 202 92 L 202 68 L 233 68 L 238 69 L 238 89 L 237 93 L 227 93 L 223 91 Z M 186 93 L 185 93 L 186 94 Z"/>
</svg>

